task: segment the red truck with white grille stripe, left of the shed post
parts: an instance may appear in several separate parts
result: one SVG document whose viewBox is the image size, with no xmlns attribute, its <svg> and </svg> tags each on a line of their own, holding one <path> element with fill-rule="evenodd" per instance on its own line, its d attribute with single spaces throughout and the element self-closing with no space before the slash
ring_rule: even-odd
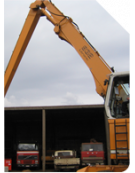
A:
<svg viewBox="0 0 135 173">
<path fill-rule="evenodd" d="M 16 164 L 21 168 L 39 167 L 39 149 L 36 143 L 18 143 Z"/>
</svg>

